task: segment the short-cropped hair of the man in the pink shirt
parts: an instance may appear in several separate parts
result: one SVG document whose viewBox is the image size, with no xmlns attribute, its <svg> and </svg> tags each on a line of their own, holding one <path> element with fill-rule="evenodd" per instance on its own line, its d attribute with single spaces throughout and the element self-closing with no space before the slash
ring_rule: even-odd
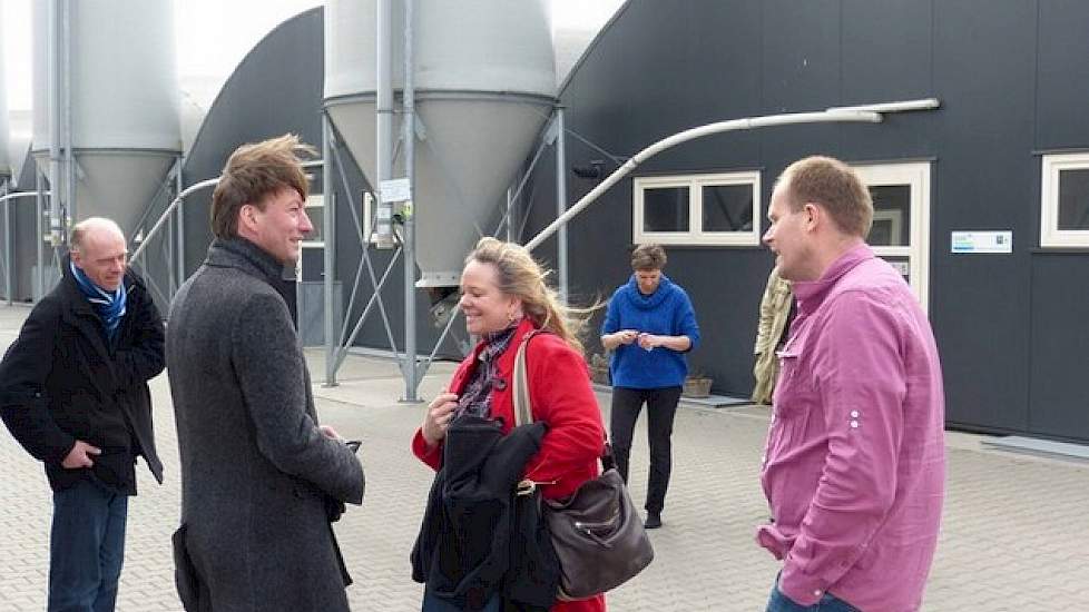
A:
<svg viewBox="0 0 1089 612">
<path fill-rule="evenodd" d="M 815 155 L 791 164 L 778 182 L 787 188 L 791 210 L 801 210 L 806 203 L 820 204 L 841 230 L 863 238 L 870 235 L 873 200 L 851 166 Z"/>
</svg>

